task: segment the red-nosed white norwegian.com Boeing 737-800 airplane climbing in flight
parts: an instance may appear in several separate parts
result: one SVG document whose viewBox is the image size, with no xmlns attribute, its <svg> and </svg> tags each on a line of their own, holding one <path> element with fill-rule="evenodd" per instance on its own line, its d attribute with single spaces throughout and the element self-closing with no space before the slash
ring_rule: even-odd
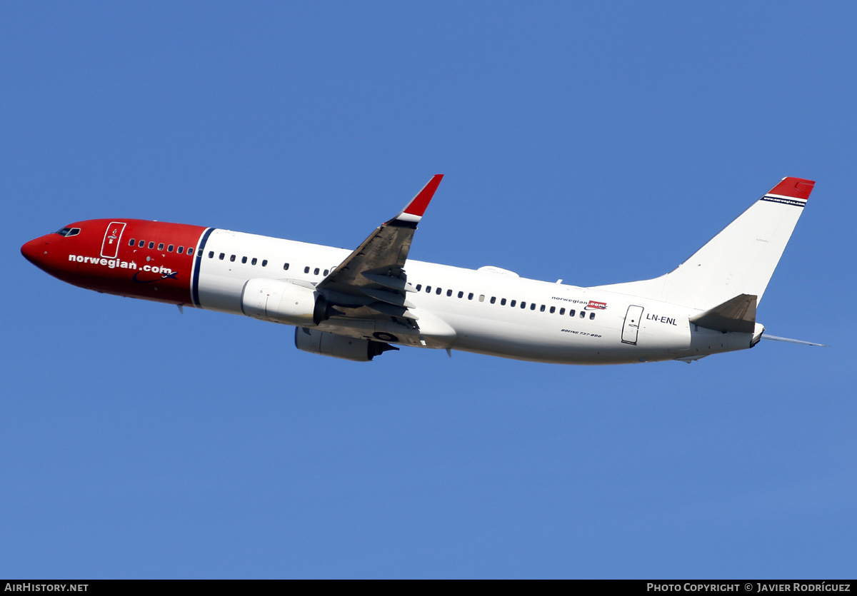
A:
<svg viewBox="0 0 857 596">
<path fill-rule="evenodd" d="M 297 349 L 351 361 L 400 346 L 595 365 L 691 362 L 762 338 L 821 345 L 756 321 L 812 180 L 783 178 L 674 271 L 584 288 L 408 259 L 442 177 L 354 251 L 116 218 L 69 224 L 21 253 L 81 288 L 293 325 Z"/>
</svg>

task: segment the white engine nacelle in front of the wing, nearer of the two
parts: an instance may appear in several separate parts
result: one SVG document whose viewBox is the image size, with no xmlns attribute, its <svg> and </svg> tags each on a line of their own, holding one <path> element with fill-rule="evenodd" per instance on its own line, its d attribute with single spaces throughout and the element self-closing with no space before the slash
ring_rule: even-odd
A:
<svg viewBox="0 0 857 596">
<path fill-rule="evenodd" d="M 309 327 L 327 319 L 327 301 L 297 283 L 249 279 L 241 290 L 241 312 L 263 321 Z"/>
</svg>

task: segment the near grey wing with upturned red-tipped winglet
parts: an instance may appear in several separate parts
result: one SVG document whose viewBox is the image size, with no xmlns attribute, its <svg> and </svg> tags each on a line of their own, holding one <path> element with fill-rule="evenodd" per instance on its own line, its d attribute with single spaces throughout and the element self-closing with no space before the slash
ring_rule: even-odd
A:
<svg viewBox="0 0 857 596">
<path fill-rule="evenodd" d="M 416 291 L 407 282 L 404 266 L 414 230 L 440 184 L 442 174 L 428 181 L 405 209 L 369 235 L 315 289 L 339 313 L 347 317 L 381 313 L 393 317 L 417 319 L 405 295 Z M 367 309 L 369 312 L 367 312 Z"/>
</svg>

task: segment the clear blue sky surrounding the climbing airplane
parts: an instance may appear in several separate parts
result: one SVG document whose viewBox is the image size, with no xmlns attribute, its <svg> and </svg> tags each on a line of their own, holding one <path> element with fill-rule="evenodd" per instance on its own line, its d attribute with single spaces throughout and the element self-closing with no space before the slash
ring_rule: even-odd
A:
<svg viewBox="0 0 857 596">
<path fill-rule="evenodd" d="M 850 3 L 2 3 L 0 576 L 854 576 Z M 758 319 L 686 365 L 297 351 L 77 289 L 86 218 L 669 271 L 817 180 Z M 10 217 L 9 217 L 10 216 Z"/>
</svg>

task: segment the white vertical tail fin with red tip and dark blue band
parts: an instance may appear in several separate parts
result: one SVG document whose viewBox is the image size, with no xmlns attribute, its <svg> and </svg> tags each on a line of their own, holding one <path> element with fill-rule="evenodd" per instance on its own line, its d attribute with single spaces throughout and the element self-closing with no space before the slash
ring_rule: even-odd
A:
<svg viewBox="0 0 857 596">
<path fill-rule="evenodd" d="M 755 295 L 761 301 L 814 184 L 803 178 L 783 178 L 668 274 L 598 288 L 701 310 L 740 294 Z"/>
</svg>

